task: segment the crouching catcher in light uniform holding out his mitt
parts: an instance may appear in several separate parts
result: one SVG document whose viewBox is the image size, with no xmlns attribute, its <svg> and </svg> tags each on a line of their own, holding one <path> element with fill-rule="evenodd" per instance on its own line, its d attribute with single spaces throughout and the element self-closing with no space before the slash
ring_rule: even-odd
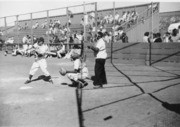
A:
<svg viewBox="0 0 180 127">
<path fill-rule="evenodd" d="M 73 61 L 74 70 L 67 71 L 64 68 L 60 68 L 59 73 L 62 76 L 67 74 L 67 77 L 72 81 L 72 84 L 69 86 L 83 88 L 88 85 L 85 81 L 89 77 L 89 71 L 86 67 L 86 64 L 81 62 L 80 55 L 73 52 L 71 54 L 71 60 Z"/>
</svg>

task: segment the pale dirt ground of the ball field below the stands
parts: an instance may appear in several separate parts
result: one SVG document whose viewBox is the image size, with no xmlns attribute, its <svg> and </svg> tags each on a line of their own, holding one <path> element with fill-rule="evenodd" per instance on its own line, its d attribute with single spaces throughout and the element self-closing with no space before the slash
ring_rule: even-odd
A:
<svg viewBox="0 0 180 127">
<path fill-rule="evenodd" d="M 72 68 L 70 60 L 48 58 L 54 84 L 36 80 L 28 85 L 33 57 L 4 56 L 0 52 L 0 126 L 76 127 L 75 88 L 58 73 Z M 94 61 L 87 59 L 93 75 Z M 108 84 L 83 88 L 85 127 L 179 127 L 180 68 L 106 63 Z M 42 75 L 41 71 L 34 76 Z"/>
</svg>

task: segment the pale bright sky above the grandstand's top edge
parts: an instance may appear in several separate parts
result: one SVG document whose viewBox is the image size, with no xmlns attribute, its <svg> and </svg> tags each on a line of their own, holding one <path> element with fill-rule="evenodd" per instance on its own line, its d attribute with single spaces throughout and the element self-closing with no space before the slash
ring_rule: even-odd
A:
<svg viewBox="0 0 180 127">
<path fill-rule="evenodd" d="M 126 7 L 131 5 L 139 5 L 139 4 L 146 4 L 152 2 L 152 0 L 114 0 L 116 2 L 116 7 Z M 80 1 L 80 0 L 0 0 L 0 17 L 5 16 L 12 16 L 12 15 L 19 15 L 19 14 L 25 14 L 25 13 L 32 13 L 36 11 L 43 11 L 43 10 L 49 10 L 49 9 L 55 9 L 55 8 L 62 8 L 72 5 L 79 5 L 90 2 L 98 2 L 97 3 L 97 9 L 106 9 L 106 8 L 112 8 L 113 7 L 113 1 L 112 0 L 86 0 L 86 1 Z M 157 2 L 157 1 L 156 1 Z M 171 2 L 167 0 L 159 0 L 160 2 L 160 12 L 169 12 L 169 11 L 180 11 L 180 0 L 171 0 Z M 90 8 L 93 8 L 90 7 Z M 83 7 L 73 8 L 72 11 L 83 11 Z M 54 11 L 54 13 L 56 13 Z M 59 11 L 57 12 L 59 13 Z M 61 13 L 65 13 L 65 9 L 62 9 Z M 41 15 L 46 15 L 46 13 L 42 13 Z M 51 14 L 50 14 L 51 15 Z M 24 15 L 26 17 L 27 15 Z M 29 15 L 28 15 L 29 16 Z M 34 15 L 36 16 L 36 15 Z M 53 14 L 52 14 L 53 16 Z M 23 17 L 23 16 L 22 16 Z M 21 18 L 21 17 L 20 17 Z M 35 18 L 35 17 L 34 17 Z M 38 16 L 37 16 L 38 18 Z M 0 22 L 3 19 L 0 18 Z M 9 20 L 16 20 L 15 17 L 13 19 Z"/>
</svg>

